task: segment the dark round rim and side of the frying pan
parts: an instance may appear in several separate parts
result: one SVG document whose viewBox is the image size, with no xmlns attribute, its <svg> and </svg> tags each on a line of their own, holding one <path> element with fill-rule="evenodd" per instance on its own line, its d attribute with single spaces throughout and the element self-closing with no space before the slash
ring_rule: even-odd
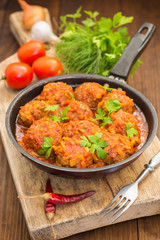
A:
<svg viewBox="0 0 160 240">
<path fill-rule="evenodd" d="M 141 99 L 143 99 L 147 105 L 149 106 L 149 109 L 151 111 L 151 114 L 153 116 L 153 120 L 154 120 L 154 126 L 152 129 L 152 132 L 149 136 L 149 138 L 147 139 L 147 141 L 145 142 L 145 144 L 142 146 L 142 148 L 140 148 L 137 152 L 135 152 L 133 155 L 131 155 L 130 157 L 114 163 L 114 164 L 110 164 L 110 165 L 105 165 L 103 167 L 97 167 L 97 168 L 84 168 L 84 169 L 78 169 L 78 168 L 68 168 L 68 167 L 62 167 L 62 166 L 57 166 L 57 165 L 53 165 L 50 163 L 46 163 L 36 157 L 33 157 L 32 155 L 30 155 L 29 153 L 27 153 L 16 141 L 15 137 L 12 134 L 11 131 L 11 126 L 10 126 L 10 115 L 12 112 L 13 107 L 15 106 L 16 102 L 18 101 L 18 99 L 20 99 L 23 95 L 25 95 L 26 93 L 28 94 L 30 90 L 38 87 L 38 86 L 43 86 L 49 82 L 55 82 L 55 81 L 63 81 L 63 80 L 71 80 L 71 79 L 79 79 L 79 78 L 83 78 L 83 79 L 87 79 L 87 80 L 91 80 L 91 82 L 93 82 L 96 80 L 104 80 L 107 81 L 106 83 L 110 82 L 110 83 L 118 83 L 119 87 L 123 87 L 125 86 L 125 88 L 127 88 L 128 90 L 134 92 L 136 95 L 138 95 Z M 69 84 L 69 83 L 68 83 Z M 124 82 L 121 82 L 119 80 L 116 79 L 110 79 L 109 77 L 103 77 L 103 76 L 99 76 L 99 75 L 93 75 L 93 74 L 64 74 L 64 75 L 60 75 L 60 76 L 56 76 L 56 77 L 50 77 L 50 78 L 46 78 L 43 80 L 40 80 L 39 82 L 33 83 L 31 85 L 29 85 L 28 87 L 26 87 L 25 89 L 21 90 L 15 97 L 14 99 L 11 101 L 7 112 L 6 112 L 6 117 L 5 117 L 5 126 L 6 126 L 6 130 L 8 133 L 9 138 L 11 139 L 13 145 L 18 149 L 18 151 L 24 155 L 25 157 L 27 157 L 27 159 L 38 163 L 39 165 L 41 165 L 42 167 L 47 167 L 51 170 L 56 170 L 56 171 L 60 171 L 60 172 L 65 172 L 65 173 L 75 173 L 75 174 L 80 174 L 80 173 L 96 173 L 96 172 L 105 172 L 106 170 L 110 170 L 110 169 L 115 169 L 117 167 L 123 166 L 126 163 L 132 162 L 134 161 L 134 159 L 136 159 L 137 157 L 139 157 L 145 149 L 147 149 L 147 147 L 151 144 L 151 142 L 153 141 L 153 138 L 156 135 L 157 132 L 157 128 L 158 128 L 158 117 L 157 117 L 157 113 L 152 105 L 152 103 L 141 93 L 139 92 L 137 89 L 131 87 L 128 84 L 125 84 Z"/>
</svg>

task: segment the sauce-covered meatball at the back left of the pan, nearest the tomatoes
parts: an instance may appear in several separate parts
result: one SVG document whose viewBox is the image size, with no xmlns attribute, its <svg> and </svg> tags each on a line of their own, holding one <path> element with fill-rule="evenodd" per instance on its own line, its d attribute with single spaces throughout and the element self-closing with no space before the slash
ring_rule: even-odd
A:
<svg viewBox="0 0 160 240">
<path fill-rule="evenodd" d="M 49 100 L 51 104 L 66 106 L 72 100 L 73 88 L 63 82 L 48 83 L 43 87 L 43 91 L 37 97 L 38 100 Z"/>
</svg>

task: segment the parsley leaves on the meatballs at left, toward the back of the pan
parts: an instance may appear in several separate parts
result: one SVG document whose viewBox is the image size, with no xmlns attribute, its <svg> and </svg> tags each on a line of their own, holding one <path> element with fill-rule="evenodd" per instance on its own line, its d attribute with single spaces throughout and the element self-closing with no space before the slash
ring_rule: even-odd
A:
<svg viewBox="0 0 160 240">
<path fill-rule="evenodd" d="M 59 105 L 49 105 L 47 106 L 44 111 L 57 111 L 58 110 Z M 64 120 L 68 119 L 69 117 L 66 117 L 66 113 L 69 110 L 69 106 L 65 107 L 62 112 L 60 113 L 60 111 L 57 111 L 57 115 L 54 115 L 52 117 L 49 117 L 50 119 L 53 119 L 56 122 L 63 122 Z"/>
</svg>

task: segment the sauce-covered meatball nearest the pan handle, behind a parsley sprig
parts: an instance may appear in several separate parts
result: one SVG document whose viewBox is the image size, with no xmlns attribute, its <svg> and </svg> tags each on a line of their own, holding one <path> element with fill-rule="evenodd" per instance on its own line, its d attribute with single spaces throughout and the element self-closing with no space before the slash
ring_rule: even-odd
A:
<svg viewBox="0 0 160 240">
<path fill-rule="evenodd" d="M 128 96 L 126 96 L 126 92 L 122 91 L 122 90 L 117 90 L 117 89 L 113 89 L 112 92 L 109 92 L 107 94 L 106 97 L 104 97 L 102 99 L 102 101 L 98 104 L 98 107 L 102 108 L 104 111 L 107 111 L 106 107 L 105 107 L 105 103 L 107 103 L 107 101 L 109 99 L 116 99 L 120 101 L 120 105 L 121 105 L 121 109 L 123 111 L 132 113 L 134 110 L 134 102 L 133 99 L 129 98 Z"/>
</svg>

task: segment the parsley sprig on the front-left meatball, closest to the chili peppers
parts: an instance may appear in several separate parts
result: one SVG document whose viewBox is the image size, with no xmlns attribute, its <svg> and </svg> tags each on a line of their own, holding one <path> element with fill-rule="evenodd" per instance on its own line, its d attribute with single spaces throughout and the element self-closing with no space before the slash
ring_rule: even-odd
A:
<svg viewBox="0 0 160 240">
<path fill-rule="evenodd" d="M 39 155 L 45 155 L 46 159 L 50 157 L 52 152 L 52 137 L 44 137 L 44 143 L 41 145 L 41 149 L 38 151 Z"/>
</svg>

